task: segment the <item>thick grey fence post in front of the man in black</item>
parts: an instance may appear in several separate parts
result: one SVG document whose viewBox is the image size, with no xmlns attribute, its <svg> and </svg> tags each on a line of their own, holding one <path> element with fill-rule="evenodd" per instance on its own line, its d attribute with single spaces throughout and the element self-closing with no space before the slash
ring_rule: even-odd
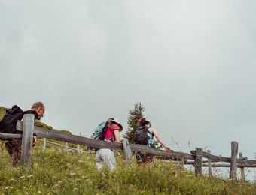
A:
<svg viewBox="0 0 256 195">
<path fill-rule="evenodd" d="M 33 143 L 35 115 L 26 114 L 23 117 L 23 139 L 21 146 L 20 164 L 23 167 L 31 168 L 31 148 Z"/>
</svg>

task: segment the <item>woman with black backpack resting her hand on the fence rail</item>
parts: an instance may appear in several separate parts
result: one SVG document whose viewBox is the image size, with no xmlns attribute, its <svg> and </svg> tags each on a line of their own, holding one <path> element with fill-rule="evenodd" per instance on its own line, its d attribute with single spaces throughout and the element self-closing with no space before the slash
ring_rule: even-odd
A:
<svg viewBox="0 0 256 195">
<path fill-rule="evenodd" d="M 160 135 L 157 133 L 157 130 L 154 127 L 151 127 L 150 121 L 147 121 L 145 118 L 139 118 L 138 120 L 138 130 L 135 133 L 135 143 L 148 145 L 148 147 L 153 148 L 153 139 L 156 137 L 157 141 L 166 149 L 166 151 L 172 151 L 172 148 L 169 148 L 166 144 L 163 143 Z M 136 152 L 137 163 L 151 163 L 153 161 L 153 156 L 150 154 L 143 154 L 142 152 Z"/>
</svg>

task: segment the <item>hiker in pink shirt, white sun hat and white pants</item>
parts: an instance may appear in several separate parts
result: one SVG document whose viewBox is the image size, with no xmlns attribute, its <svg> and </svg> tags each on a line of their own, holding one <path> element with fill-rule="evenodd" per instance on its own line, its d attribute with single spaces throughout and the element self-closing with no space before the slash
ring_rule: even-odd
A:
<svg viewBox="0 0 256 195">
<path fill-rule="evenodd" d="M 109 118 L 105 130 L 104 140 L 108 142 L 121 142 L 120 132 L 123 126 L 117 118 Z M 102 169 L 104 166 L 113 170 L 116 168 L 114 151 L 108 148 L 100 148 L 96 151 L 96 166 Z"/>
</svg>

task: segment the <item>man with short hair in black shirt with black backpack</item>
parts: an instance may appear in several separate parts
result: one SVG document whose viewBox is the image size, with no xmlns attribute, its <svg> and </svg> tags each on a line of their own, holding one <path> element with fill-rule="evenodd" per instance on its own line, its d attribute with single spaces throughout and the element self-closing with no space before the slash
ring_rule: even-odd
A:
<svg viewBox="0 0 256 195">
<path fill-rule="evenodd" d="M 25 112 L 15 105 L 11 110 L 7 110 L 7 114 L 1 121 L 0 130 L 3 133 L 21 133 L 17 132 L 16 124 L 18 120 L 23 121 L 23 115 L 33 114 L 35 115 L 35 119 L 40 120 L 44 117 L 44 111 L 44 104 L 40 101 L 35 102 L 32 105 L 31 110 L 27 110 Z M 33 146 L 35 146 L 36 141 L 36 136 L 33 136 Z M 5 148 L 11 156 L 11 168 L 17 166 L 20 162 L 21 145 L 22 139 L 9 139 L 8 142 L 5 142 Z"/>
</svg>

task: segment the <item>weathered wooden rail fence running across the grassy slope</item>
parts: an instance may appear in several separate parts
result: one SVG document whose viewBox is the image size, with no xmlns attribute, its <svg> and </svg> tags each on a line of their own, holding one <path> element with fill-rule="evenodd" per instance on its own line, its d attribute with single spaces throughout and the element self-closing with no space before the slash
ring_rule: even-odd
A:
<svg viewBox="0 0 256 195">
<path fill-rule="evenodd" d="M 256 167 L 256 160 L 247 160 L 247 157 L 242 157 L 242 154 L 238 154 L 238 143 L 231 142 L 231 155 L 230 157 L 215 156 L 210 151 L 202 151 L 202 148 L 196 148 L 194 151 L 190 151 L 190 154 L 176 151 L 163 151 L 154 148 L 149 148 L 146 145 L 130 144 L 126 139 L 122 143 L 105 142 L 102 140 L 89 139 L 86 137 L 75 136 L 72 134 L 56 132 L 53 130 L 47 130 L 43 127 L 34 126 L 34 115 L 24 115 L 23 123 L 18 121 L 17 130 L 23 131 L 23 134 L 9 134 L 0 133 L 0 139 L 23 139 L 22 140 L 22 154 L 21 154 L 21 166 L 31 167 L 31 149 L 33 134 L 41 136 L 44 140 L 54 139 L 62 142 L 69 142 L 78 145 L 86 145 L 90 148 L 109 148 L 114 150 L 122 150 L 123 157 L 126 163 L 130 164 L 132 159 L 132 151 L 140 151 L 145 154 L 151 154 L 154 156 L 162 157 L 164 159 L 171 159 L 178 161 L 183 166 L 184 164 L 193 165 L 195 168 L 195 175 L 202 175 L 202 167 L 208 166 L 209 175 L 212 175 L 212 167 L 230 167 L 230 179 L 236 181 L 237 167 L 241 168 L 242 179 L 245 179 L 244 167 Z M 44 142 L 46 144 L 46 141 Z M 44 145 L 45 147 L 45 145 Z M 203 160 L 206 158 L 207 160 Z M 212 164 L 215 162 L 224 162 L 226 164 Z M 227 164 L 230 163 L 230 164 Z"/>
</svg>

